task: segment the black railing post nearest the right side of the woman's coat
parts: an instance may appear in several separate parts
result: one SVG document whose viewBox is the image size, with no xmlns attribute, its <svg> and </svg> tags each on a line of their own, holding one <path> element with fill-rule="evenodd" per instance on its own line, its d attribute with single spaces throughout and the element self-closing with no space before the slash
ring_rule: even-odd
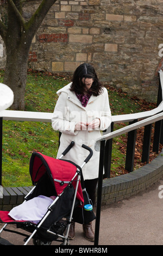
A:
<svg viewBox="0 0 163 256">
<path fill-rule="evenodd" d="M 113 131 L 114 123 L 111 123 L 111 131 Z M 112 139 L 108 139 L 105 145 L 105 154 L 104 154 L 104 178 L 110 178 L 110 169 L 111 169 L 111 153 L 112 153 Z"/>
</svg>

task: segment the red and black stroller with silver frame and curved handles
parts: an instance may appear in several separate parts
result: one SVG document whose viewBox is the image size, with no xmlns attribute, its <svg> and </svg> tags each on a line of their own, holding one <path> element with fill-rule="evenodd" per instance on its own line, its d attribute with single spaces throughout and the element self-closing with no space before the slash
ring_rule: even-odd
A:
<svg viewBox="0 0 163 256">
<path fill-rule="evenodd" d="M 24 245 L 32 239 L 34 245 L 51 245 L 52 241 L 61 242 L 61 245 L 69 245 L 68 233 L 75 208 L 83 208 L 84 198 L 80 176 L 83 166 L 92 157 L 92 150 L 86 145 L 83 148 L 89 150 L 89 155 L 79 167 L 76 163 L 61 160 L 73 147 L 74 142 L 65 149 L 59 159 L 45 156 L 39 152 L 32 153 L 29 163 L 29 172 L 34 187 L 24 198 L 24 202 L 40 195 L 55 196 L 54 201 L 49 205 L 46 214 L 39 223 L 31 221 L 14 220 L 9 216 L 9 211 L 0 211 L 0 220 L 5 223 L 2 231 L 14 232 L 26 236 Z M 16 224 L 16 228 L 27 231 L 24 234 L 18 231 L 7 229 L 8 224 Z M 0 237 L 0 245 L 11 245 L 11 243 Z"/>
</svg>

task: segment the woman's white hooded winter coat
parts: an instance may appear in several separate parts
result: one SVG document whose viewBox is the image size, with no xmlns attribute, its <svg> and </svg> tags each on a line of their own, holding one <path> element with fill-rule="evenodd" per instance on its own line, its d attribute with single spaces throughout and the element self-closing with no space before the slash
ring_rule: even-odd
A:
<svg viewBox="0 0 163 256">
<path fill-rule="evenodd" d="M 76 94 L 70 91 L 70 86 L 71 83 L 58 90 L 59 98 L 52 117 L 53 129 L 62 133 L 57 158 L 71 141 L 74 141 L 74 146 L 62 159 L 73 161 L 82 166 L 87 155 L 89 155 L 89 151 L 82 148 L 82 144 L 87 145 L 93 150 L 93 156 L 82 169 L 84 180 L 96 179 L 98 178 L 99 152 L 94 148 L 95 140 L 101 137 L 101 131 L 107 129 L 111 124 L 108 92 L 106 88 L 103 88 L 102 94 L 98 96 L 91 95 L 87 106 L 83 107 Z M 100 119 L 98 130 L 74 131 L 78 122 L 90 123 L 95 118 Z"/>
</svg>

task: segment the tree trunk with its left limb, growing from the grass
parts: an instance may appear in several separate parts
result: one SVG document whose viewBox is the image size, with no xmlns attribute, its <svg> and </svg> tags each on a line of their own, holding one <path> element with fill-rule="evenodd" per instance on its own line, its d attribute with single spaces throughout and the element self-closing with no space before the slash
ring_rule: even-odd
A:
<svg viewBox="0 0 163 256">
<path fill-rule="evenodd" d="M 8 31 L 5 41 L 7 58 L 3 82 L 14 92 L 14 103 L 11 108 L 24 111 L 30 40 L 14 14 L 14 10 L 8 8 Z"/>
</svg>

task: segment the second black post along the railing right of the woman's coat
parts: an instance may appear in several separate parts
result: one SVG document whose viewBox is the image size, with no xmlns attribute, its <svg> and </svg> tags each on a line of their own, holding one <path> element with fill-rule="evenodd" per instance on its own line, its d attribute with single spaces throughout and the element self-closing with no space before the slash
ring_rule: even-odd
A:
<svg viewBox="0 0 163 256">
<path fill-rule="evenodd" d="M 137 122 L 137 119 L 135 119 L 134 121 L 130 121 L 129 125 L 134 124 L 136 122 Z M 136 130 L 128 132 L 126 165 L 125 165 L 125 169 L 128 170 L 128 172 L 133 172 L 133 169 L 134 169 L 135 142 L 136 142 Z"/>
</svg>

